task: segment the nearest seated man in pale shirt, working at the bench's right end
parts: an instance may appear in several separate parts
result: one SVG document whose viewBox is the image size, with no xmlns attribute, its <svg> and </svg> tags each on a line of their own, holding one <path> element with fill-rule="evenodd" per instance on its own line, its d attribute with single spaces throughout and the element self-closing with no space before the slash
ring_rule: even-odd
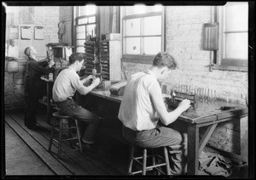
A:
<svg viewBox="0 0 256 180">
<path fill-rule="evenodd" d="M 166 78 L 177 67 L 175 59 L 160 52 L 148 70 L 130 76 L 119 107 L 119 120 L 123 123 L 123 136 L 133 144 L 146 148 L 167 146 L 172 175 L 183 172 L 186 134 L 166 127 L 190 106 L 183 99 L 176 110 L 168 112 L 162 98 L 158 80 Z"/>
</svg>

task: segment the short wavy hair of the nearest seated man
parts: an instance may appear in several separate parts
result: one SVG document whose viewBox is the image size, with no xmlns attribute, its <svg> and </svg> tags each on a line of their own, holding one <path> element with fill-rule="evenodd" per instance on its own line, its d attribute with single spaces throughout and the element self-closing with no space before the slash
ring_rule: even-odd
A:
<svg viewBox="0 0 256 180">
<path fill-rule="evenodd" d="M 174 70 L 177 68 L 176 60 L 166 52 L 157 53 L 154 57 L 153 65 L 157 67 L 167 66 L 168 69 Z"/>
</svg>

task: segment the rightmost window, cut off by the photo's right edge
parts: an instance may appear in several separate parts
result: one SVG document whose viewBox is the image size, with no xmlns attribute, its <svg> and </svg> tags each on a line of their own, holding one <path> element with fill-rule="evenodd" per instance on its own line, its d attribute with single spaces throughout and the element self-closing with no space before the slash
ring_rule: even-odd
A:
<svg viewBox="0 0 256 180">
<path fill-rule="evenodd" d="M 232 2 L 217 8 L 219 48 L 214 69 L 247 71 L 248 3 Z"/>
</svg>

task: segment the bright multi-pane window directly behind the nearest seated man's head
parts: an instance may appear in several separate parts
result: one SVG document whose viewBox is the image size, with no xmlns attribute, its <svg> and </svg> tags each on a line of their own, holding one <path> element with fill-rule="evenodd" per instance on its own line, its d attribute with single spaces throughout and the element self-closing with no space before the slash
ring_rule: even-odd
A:
<svg viewBox="0 0 256 180">
<path fill-rule="evenodd" d="M 163 7 L 122 7 L 123 60 L 151 64 L 163 51 Z"/>
</svg>

